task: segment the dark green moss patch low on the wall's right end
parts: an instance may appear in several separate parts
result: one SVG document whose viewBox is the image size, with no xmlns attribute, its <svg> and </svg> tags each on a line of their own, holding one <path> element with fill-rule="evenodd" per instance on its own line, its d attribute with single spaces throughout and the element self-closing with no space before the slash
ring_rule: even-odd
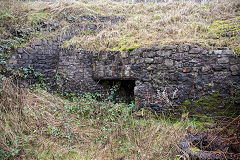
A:
<svg viewBox="0 0 240 160">
<path fill-rule="evenodd" d="M 202 97 L 191 104 L 186 100 L 180 109 L 183 113 L 189 113 L 190 117 L 196 117 L 202 122 L 212 123 L 212 117 L 236 117 L 240 109 L 234 101 L 240 99 L 240 93 L 236 90 L 235 95 L 230 98 L 223 98 L 218 92 L 210 96 Z"/>
</svg>

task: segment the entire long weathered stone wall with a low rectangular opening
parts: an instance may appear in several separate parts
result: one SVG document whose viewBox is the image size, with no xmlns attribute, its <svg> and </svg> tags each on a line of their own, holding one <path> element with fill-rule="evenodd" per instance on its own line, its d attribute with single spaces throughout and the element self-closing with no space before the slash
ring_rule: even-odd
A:
<svg viewBox="0 0 240 160">
<path fill-rule="evenodd" d="M 79 94 L 108 96 L 118 83 L 122 86 L 119 96 L 125 96 L 126 102 L 135 100 L 137 107 L 157 112 L 215 92 L 229 97 L 240 86 L 240 57 L 227 48 L 209 51 L 182 45 L 92 52 L 60 45 L 58 38 L 36 39 L 27 48 L 17 49 L 8 64 L 31 66 L 44 74 L 48 85 L 55 81 L 63 91 Z M 68 81 L 56 80 L 56 75 Z"/>
</svg>

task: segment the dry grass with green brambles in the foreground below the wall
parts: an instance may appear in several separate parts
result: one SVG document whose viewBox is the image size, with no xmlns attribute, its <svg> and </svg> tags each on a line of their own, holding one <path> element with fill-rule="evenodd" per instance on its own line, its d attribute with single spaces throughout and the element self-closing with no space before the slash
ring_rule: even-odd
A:
<svg viewBox="0 0 240 160">
<path fill-rule="evenodd" d="M 0 84 L 0 159 L 177 159 L 179 141 L 204 129 L 91 94 L 65 99 L 2 77 Z"/>
</svg>

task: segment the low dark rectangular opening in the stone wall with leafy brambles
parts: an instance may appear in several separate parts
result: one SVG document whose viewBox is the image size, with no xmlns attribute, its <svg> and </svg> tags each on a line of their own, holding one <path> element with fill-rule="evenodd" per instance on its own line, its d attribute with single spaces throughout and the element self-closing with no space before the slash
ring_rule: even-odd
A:
<svg viewBox="0 0 240 160">
<path fill-rule="evenodd" d="M 101 80 L 99 84 L 107 100 L 128 104 L 134 101 L 135 80 Z"/>
</svg>

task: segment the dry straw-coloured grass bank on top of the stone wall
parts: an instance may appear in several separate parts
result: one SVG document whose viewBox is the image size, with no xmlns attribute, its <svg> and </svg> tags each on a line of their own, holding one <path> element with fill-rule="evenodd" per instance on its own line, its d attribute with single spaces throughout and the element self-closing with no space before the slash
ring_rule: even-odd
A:
<svg viewBox="0 0 240 160">
<path fill-rule="evenodd" d="M 51 31 L 33 31 L 36 37 L 67 35 L 76 31 L 63 47 L 75 45 L 85 50 L 127 50 L 159 45 L 198 44 L 207 48 L 239 49 L 239 1 L 225 0 L 203 4 L 193 2 L 125 3 L 125 2 L 0 2 L 4 24 L 0 38 L 11 38 L 9 28 L 27 30 L 39 22 L 58 23 Z M 82 20 L 81 16 L 93 19 Z M 97 17 L 122 17 L 116 23 Z M 86 29 L 92 24 L 97 29 Z M 83 29 L 81 26 L 86 28 Z M 34 33 L 38 34 L 34 34 Z"/>
</svg>

